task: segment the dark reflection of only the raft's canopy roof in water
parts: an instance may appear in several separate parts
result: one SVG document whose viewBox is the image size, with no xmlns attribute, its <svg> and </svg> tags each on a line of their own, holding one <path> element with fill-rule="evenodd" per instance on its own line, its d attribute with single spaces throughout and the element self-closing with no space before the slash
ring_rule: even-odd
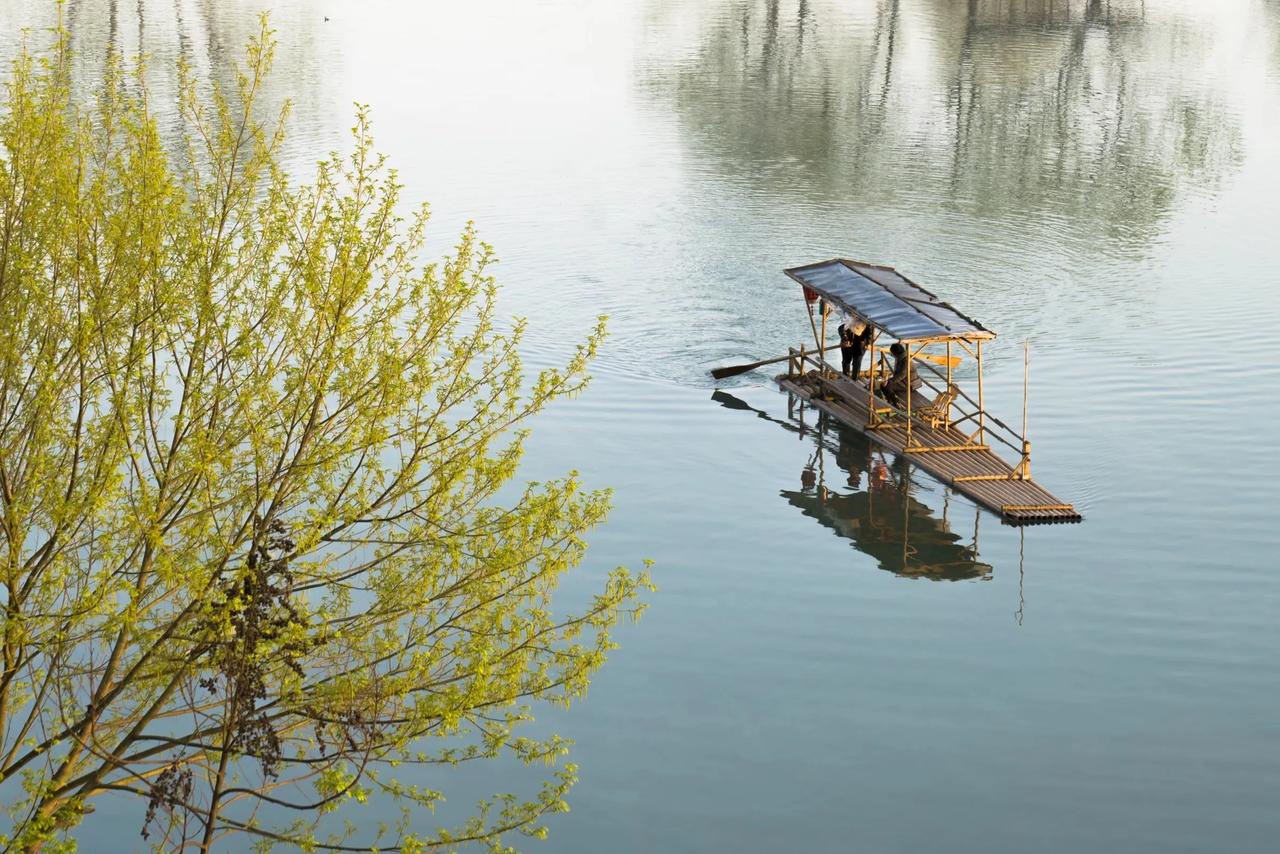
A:
<svg viewBox="0 0 1280 854">
<path fill-rule="evenodd" d="M 891 487 L 849 495 L 782 490 L 805 516 L 818 520 L 895 575 L 960 581 L 991 575 L 973 545 L 960 542 L 923 502 Z"/>
</svg>

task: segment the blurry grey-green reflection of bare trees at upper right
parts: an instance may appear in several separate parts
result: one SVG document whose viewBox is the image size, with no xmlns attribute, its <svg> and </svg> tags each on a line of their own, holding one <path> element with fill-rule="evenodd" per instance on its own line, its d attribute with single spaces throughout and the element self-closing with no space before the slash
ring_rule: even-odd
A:
<svg viewBox="0 0 1280 854">
<path fill-rule="evenodd" d="M 1238 157 L 1210 38 L 1140 0 L 726 0 L 643 82 L 713 164 L 772 193 L 1143 243 L 1181 186 L 1212 188 Z"/>
</svg>

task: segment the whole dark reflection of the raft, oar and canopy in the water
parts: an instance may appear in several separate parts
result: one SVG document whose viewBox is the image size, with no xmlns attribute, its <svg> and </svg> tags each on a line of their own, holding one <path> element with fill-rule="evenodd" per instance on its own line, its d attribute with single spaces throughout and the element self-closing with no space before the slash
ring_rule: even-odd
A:
<svg viewBox="0 0 1280 854">
<path fill-rule="evenodd" d="M 906 460 L 882 452 L 863 434 L 827 423 L 803 405 L 782 420 L 723 391 L 714 392 L 712 399 L 812 437 L 814 449 L 800 472 L 800 488 L 781 490 L 782 498 L 876 558 L 881 568 L 934 581 L 991 577 L 991 565 L 978 557 L 982 511 L 968 506 L 964 511 L 973 513 L 972 538 L 954 533 L 948 498 L 941 513 L 916 498 Z M 788 398 L 788 403 L 796 402 Z"/>
</svg>

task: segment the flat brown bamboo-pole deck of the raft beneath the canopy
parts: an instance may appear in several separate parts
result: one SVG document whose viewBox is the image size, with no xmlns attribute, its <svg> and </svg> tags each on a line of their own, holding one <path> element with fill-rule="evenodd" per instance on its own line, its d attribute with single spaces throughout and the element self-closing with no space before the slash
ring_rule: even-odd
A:
<svg viewBox="0 0 1280 854">
<path fill-rule="evenodd" d="M 1021 478 L 1014 466 L 987 447 L 955 449 L 972 444 L 970 437 L 954 426 L 929 426 L 911 421 L 911 448 L 908 449 L 906 421 L 901 416 L 868 428 L 870 393 L 832 371 L 781 374 L 778 384 L 818 410 L 860 430 L 890 451 L 905 455 L 914 465 L 947 484 L 978 504 L 998 513 L 1010 525 L 1079 522 L 1075 507 L 1056 498 L 1030 478 Z M 877 394 L 877 407 L 884 401 Z M 913 408 L 923 407 L 928 398 L 913 393 Z"/>
</svg>

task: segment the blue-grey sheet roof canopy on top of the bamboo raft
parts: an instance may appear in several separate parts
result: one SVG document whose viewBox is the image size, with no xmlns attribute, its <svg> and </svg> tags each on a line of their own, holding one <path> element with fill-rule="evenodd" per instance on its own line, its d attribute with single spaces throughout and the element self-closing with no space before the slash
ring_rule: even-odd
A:
<svg viewBox="0 0 1280 854">
<path fill-rule="evenodd" d="M 785 273 L 827 302 L 863 318 L 899 341 L 978 341 L 996 337 L 996 333 L 891 266 L 832 259 L 795 266 Z"/>
</svg>

